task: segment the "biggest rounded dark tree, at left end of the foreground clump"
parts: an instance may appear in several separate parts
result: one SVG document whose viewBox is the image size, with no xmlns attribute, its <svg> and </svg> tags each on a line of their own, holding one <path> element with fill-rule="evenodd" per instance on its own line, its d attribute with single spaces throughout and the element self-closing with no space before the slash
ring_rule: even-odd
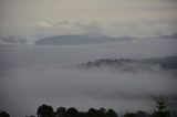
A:
<svg viewBox="0 0 177 117">
<path fill-rule="evenodd" d="M 42 105 L 38 108 L 38 117 L 54 117 L 54 111 L 52 106 Z"/>
</svg>

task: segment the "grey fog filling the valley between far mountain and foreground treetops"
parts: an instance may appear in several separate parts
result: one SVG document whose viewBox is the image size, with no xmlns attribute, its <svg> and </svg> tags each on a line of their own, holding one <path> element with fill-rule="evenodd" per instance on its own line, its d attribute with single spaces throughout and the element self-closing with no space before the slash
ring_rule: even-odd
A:
<svg viewBox="0 0 177 117">
<path fill-rule="evenodd" d="M 1 45 L 0 108 L 13 116 L 35 115 L 42 104 L 54 107 L 152 111 L 153 97 L 177 94 L 173 70 L 149 66 L 133 71 L 79 68 L 98 59 L 152 59 L 176 55 L 177 40 L 148 39 L 90 45 Z M 175 70 L 176 71 L 176 70 Z"/>
</svg>

